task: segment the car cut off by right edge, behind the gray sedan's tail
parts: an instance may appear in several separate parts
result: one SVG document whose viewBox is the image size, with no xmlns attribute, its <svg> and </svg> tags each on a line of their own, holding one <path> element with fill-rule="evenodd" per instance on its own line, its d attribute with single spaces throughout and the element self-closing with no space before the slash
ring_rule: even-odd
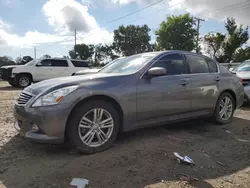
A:
<svg viewBox="0 0 250 188">
<path fill-rule="evenodd" d="M 246 60 L 236 68 L 229 70 L 241 78 L 245 91 L 245 101 L 250 101 L 250 60 Z"/>
</svg>

